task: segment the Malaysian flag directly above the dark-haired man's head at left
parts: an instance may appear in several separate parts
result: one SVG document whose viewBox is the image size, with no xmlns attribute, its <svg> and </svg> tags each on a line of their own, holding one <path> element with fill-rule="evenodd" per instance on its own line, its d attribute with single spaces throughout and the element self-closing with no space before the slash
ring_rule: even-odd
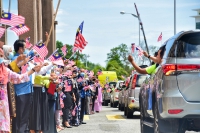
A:
<svg viewBox="0 0 200 133">
<path fill-rule="evenodd" d="M 12 31 L 14 31 L 18 36 L 29 31 L 29 28 L 24 24 L 20 24 L 15 27 L 11 27 L 10 29 Z"/>
</svg>

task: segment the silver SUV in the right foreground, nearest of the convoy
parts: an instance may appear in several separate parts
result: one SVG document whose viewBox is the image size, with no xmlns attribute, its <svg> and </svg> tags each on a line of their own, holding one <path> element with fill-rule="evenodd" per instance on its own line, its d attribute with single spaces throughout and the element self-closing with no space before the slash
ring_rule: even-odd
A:
<svg viewBox="0 0 200 133">
<path fill-rule="evenodd" d="M 141 133 L 200 131 L 200 31 L 180 32 L 163 46 L 157 72 L 141 85 Z"/>
</svg>

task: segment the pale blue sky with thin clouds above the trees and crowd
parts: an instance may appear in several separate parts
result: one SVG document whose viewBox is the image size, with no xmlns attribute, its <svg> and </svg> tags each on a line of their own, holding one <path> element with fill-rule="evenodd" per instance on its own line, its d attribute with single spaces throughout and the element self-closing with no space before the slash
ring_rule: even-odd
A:
<svg viewBox="0 0 200 133">
<path fill-rule="evenodd" d="M 8 0 L 4 0 L 5 11 Z M 54 8 L 58 0 L 54 0 Z M 160 46 L 157 38 L 162 32 L 163 40 L 174 35 L 174 0 L 61 0 L 56 38 L 64 44 L 74 44 L 78 26 L 84 20 L 83 35 L 88 45 L 83 50 L 89 54 L 88 60 L 105 66 L 107 53 L 121 43 L 130 45 L 139 42 L 138 19 L 130 14 L 121 15 L 120 11 L 136 14 L 136 3 L 143 22 L 148 45 Z M 192 9 L 200 8 L 199 0 L 176 0 L 176 32 L 194 30 L 197 13 Z M 17 0 L 12 0 L 11 12 L 17 13 Z M 140 32 L 143 41 L 142 32 Z M 17 36 L 8 31 L 8 44 L 12 45 Z"/>
</svg>

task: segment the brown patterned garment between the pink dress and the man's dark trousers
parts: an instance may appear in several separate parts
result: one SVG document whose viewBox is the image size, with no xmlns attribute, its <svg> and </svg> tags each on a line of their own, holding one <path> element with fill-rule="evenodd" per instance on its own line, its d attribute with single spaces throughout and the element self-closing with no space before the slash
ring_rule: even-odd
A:
<svg viewBox="0 0 200 133">
<path fill-rule="evenodd" d="M 10 116 L 16 117 L 16 101 L 14 85 L 10 82 L 7 84 L 8 104 L 10 110 Z"/>
</svg>

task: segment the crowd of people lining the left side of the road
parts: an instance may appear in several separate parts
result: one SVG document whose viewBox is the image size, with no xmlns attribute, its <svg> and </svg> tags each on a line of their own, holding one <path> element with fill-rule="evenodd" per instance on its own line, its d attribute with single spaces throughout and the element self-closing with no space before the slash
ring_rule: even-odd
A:
<svg viewBox="0 0 200 133">
<path fill-rule="evenodd" d="M 73 61 L 35 62 L 24 40 L 0 41 L 0 133 L 57 133 L 86 124 L 101 110 L 102 88 L 93 72 Z M 23 67 L 27 65 L 27 68 Z"/>
</svg>

